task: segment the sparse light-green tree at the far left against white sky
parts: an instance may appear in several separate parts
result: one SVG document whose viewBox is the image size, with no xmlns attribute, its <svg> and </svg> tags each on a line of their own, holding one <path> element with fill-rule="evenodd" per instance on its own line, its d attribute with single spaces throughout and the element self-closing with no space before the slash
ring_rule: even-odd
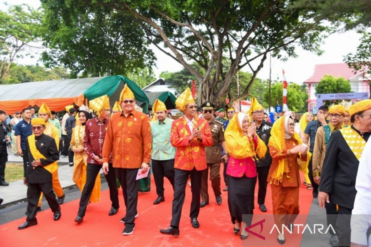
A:
<svg viewBox="0 0 371 247">
<path fill-rule="evenodd" d="M 27 4 L 9 6 L 0 11 L 0 84 L 17 59 L 29 56 L 37 41 L 40 13 Z"/>
</svg>

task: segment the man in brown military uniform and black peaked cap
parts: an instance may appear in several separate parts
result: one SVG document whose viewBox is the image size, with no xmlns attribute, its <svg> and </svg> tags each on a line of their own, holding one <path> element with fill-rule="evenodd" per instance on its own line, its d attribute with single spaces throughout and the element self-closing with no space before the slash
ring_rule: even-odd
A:
<svg viewBox="0 0 371 247">
<path fill-rule="evenodd" d="M 211 187 L 216 197 L 220 197 L 220 159 L 221 159 L 221 150 L 220 143 L 225 141 L 224 139 L 224 128 L 223 123 L 212 119 L 209 122 L 211 129 L 211 137 L 213 138 L 213 145 L 210 147 L 205 147 L 206 150 L 206 162 L 207 169 L 203 171 L 202 180 L 201 180 L 201 199 L 202 201 L 209 202 L 209 193 L 207 192 L 208 184 L 207 177 L 210 168 L 210 181 Z"/>
</svg>

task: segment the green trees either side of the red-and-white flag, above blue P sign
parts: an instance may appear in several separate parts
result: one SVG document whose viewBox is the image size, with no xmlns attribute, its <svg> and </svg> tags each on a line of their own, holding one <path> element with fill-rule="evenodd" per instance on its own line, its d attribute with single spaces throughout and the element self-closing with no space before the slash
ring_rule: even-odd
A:
<svg viewBox="0 0 371 247">
<path fill-rule="evenodd" d="M 305 86 L 304 86 L 305 87 Z M 302 113 L 307 111 L 309 95 L 307 90 L 303 90 L 303 86 L 296 83 L 289 83 L 287 85 L 287 106 L 290 111 L 295 113 Z M 264 106 L 267 107 L 269 104 L 269 91 L 264 93 Z M 277 103 L 283 105 L 283 86 L 282 83 L 274 83 L 271 86 L 271 102 L 272 107 L 276 106 Z"/>
</svg>

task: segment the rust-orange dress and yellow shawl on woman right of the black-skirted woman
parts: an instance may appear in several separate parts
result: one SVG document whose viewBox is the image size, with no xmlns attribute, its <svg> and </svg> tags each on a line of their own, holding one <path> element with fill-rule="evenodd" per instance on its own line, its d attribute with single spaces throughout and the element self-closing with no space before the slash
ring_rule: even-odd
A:
<svg viewBox="0 0 371 247">
<path fill-rule="evenodd" d="M 288 124 L 288 116 L 280 117 L 275 121 L 268 147 L 272 156 L 272 166 L 269 169 L 267 181 L 272 189 L 273 214 L 276 214 L 275 223 L 280 229 L 282 224 L 293 224 L 299 214 L 299 170 L 308 174 L 308 162 L 311 153 L 306 156 L 290 154 L 290 149 L 302 144 L 297 132 L 291 138 L 285 138 L 285 125 Z"/>
</svg>

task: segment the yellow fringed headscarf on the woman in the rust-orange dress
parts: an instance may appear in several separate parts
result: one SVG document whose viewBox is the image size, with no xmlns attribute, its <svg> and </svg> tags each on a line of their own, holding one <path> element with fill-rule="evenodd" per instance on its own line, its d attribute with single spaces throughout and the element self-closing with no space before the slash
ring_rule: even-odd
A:
<svg viewBox="0 0 371 247">
<path fill-rule="evenodd" d="M 274 147 L 277 150 L 287 149 L 286 143 L 285 143 L 285 123 L 287 123 L 285 121 L 286 117 L 288 116 L 280 117 L 278 120 L 276 120 L 273 123 L 273 126 L 270 129 L 270 138 L 269 138 L 268 146 Z M 299 134 L 296 131 L 295 131 L 295 134 L 293 135 L 293 138 L 296 141 L 298 141 L 299 144 L 303 144 L 303 141 L 301 140 Z M 312 154 L 309 153 L 309 151 L 307 151 L 307 161 L 301 161 L 298 158 L 299 170 L 301 170 L 304 174 L 309 173 L 308 164 L 309 164 L 309 160 L 311 160 L 311 156 Z M 271 175 L 270 183 L 282 182 L 283 174 L 286 173 L 286 176 L 287 176 L 288 172 L 289 172 L 289 166 L 287 163 L 287 159 L 280 158 L 278 160 L 278 167 L 276 168 L 276 170 L 273 171 Z"/>
</svg>

